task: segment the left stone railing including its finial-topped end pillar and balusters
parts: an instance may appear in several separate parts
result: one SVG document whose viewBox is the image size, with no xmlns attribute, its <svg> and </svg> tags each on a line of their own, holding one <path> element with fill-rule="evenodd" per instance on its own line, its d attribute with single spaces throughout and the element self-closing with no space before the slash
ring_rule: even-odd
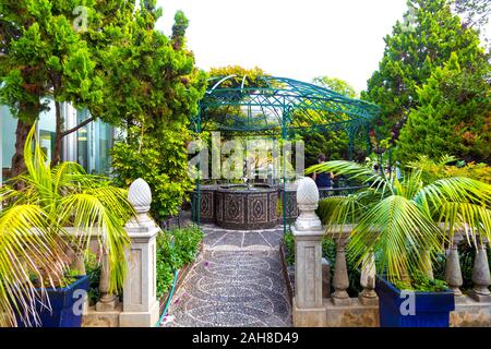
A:
<svg viewBox="0 0 491 349">
<path fill-rule="evenodd" d="M 101 252 L 101 270 L 99 280 L 100 298 L 95 306 L 84 308 L 83 326 L 87 327 L 152 327 L 158 322 L 159 304 L 157 301 L 156 280 L 156 237 L 160 228 L 148 216 L 152 192 L 148 184 L 137 179 L 129 190 L 129 201 L 136 216 L 125 225 L 130 237 L 127 251 L 128 274 L 123 285 L 123 301 L 108 292 L 109 270 L 107 254 Z M 81 233 L 68 229 L 74 234 Z M 83 232 L 82 232 L 83 233 Z M 97 234 L 92 234 L 91 246 L 100 251 Z M 75 251 L 73 267 L 85 274 L 82 252 Z"/>
</svg>

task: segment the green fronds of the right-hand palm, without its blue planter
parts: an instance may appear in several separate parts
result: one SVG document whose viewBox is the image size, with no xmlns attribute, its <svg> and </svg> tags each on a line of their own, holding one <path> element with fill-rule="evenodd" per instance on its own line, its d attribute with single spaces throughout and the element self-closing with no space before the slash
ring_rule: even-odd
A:
<svg viewBox="0 0 491 349">
<path fill-rule="evenodd" d="M 407 285 L 408 277 L 424 274 L 428 258 L 452 243 L 457 229 L 470 244 L 491 238 L 487 183 L 462 177 L 430 179 L 418 168 L 398 179 L 350 161 L 315 165 L 307 173 L 314 171 L 345 174 L 366 185 L 351 195 L 321 201 L 319 215 L 330 230 L 352 224 L 349 256 L 360 265 L 374 252 L 378 269 L 390 281 Z"/>
</svg>

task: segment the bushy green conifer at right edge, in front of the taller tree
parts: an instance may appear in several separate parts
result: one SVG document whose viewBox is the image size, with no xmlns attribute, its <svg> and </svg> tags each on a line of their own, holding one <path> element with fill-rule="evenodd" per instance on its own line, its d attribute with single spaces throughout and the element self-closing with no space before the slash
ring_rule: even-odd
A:
<svg viewBox="0 0 491 349">
<path fill-rule="evenodd" d="M 440 158 L 445 154 L 466 161 L 491 160 L 491 64 L 475 62 L 460 68 L 453 52 L 421 88 L 419 107 L 411 110 L 397 142 L 397 157 L 414 160 L 417 154 Z"/>
</svg>

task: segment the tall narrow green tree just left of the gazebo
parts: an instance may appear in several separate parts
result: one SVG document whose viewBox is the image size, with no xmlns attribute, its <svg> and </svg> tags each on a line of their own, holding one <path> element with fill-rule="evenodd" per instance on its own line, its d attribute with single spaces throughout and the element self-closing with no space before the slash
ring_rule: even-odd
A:
<svg viewBox="0 0 491 349">
<path fill-rule="evenodd" d="M 106 112 L 118 115 L 125 135 L 112 151 L 116 183 L 137 178 L 148 182 L 157 219 L 176 215 L 192 189 L 185 145 L 191 140 L 189 118 L 197 113 L 205 74 L 194 68 L 185 49 L 187 20 L 179 12 L 172 39 L 155 29 L 158 10 L 141 8 L 121 45 L 107 52 L 111 91 Z M 173 44 L 172 44 L 173 43 Z"/>
</svg>

